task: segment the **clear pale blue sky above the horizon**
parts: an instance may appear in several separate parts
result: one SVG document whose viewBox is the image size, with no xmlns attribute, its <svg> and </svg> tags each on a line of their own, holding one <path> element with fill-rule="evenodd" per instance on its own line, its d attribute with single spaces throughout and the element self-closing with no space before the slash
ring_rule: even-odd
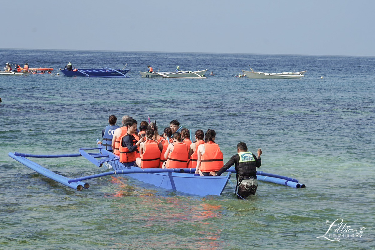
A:
<svg viewBox="0 0 375 250">
<path fill-rule="evenodd" d="M 0 48 L 375 56 L 375 1 L 1 3 Z"/>
</svg>

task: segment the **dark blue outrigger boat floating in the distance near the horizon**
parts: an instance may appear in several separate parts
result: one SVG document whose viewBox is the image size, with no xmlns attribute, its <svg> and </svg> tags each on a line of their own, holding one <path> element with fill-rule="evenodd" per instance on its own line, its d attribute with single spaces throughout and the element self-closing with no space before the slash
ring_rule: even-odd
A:
<svg viewBox="0 0 375 250">
<path fill-rule="evenodd" d="M 104 67 L 101 69 L 75 69 L 75 70 L 65 70 L 60 69 L 61 72 L 66 76 L 86 76 L 86 77 L 127 77 L 126 73 L 129 69 L 111 69 L 109 67 Z"/>
</svg>

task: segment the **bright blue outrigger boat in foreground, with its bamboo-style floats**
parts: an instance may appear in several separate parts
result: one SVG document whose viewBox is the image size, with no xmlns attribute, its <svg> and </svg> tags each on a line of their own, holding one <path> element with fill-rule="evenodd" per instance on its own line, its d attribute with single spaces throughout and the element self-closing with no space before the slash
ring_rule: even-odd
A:
<svg viewBox="0 0 375 250">
<path fill-rule="evenodd" d="M 9 153 L 13 159 L 22 163 L 30 169 L 42 174 L 52 180 L 55 180 L 65 186 L 71 187 L 75 190 L 81 191 L 90 187 L 85 180 L 103 177 L 107 175 L 129 175 L 129 177 L 140 180 L 144 183 L 153 184 L 156 187 L 162 187 L 167 190 L 173 190 L 190 195 L 206 196 L 206 195 L 221 195 L 226 184 L 230 180 L 231 173 L 236 172 L 233 168 L 228 169 L 226 175 L 222 176 L 196 176 L 194 175 L 195 168 L 183 169 L 161 169 L 161 168 L 138 168 L 136 166 L 126 167 L 120 161 L 119 157 L 110 151 L 102 148 L 99 144 L 96 148 L 80 148 L 79 153 L 76 154 L 24 154 L 24 153 Z M 59 157 L 80 157 L 83 156 L 94 165 L 98 167 L 106 166 L 113 171 L 102 172 L 100 174 L 88 175 L 78 178 L 68 178 L 63 175 L 56 174 L 49 169 L 46 169 L 36 162 L 31 161 L 26 157 L 34 158 L 59 158 Z M 268 181 L 284 186 L 294 188 L 305 188 L 304 184 L 298 183 L 297 179 L 286 177 L 282 175 L 269 174 L 257 171 L 257 177 L 260 181 Z"/>
</svg>

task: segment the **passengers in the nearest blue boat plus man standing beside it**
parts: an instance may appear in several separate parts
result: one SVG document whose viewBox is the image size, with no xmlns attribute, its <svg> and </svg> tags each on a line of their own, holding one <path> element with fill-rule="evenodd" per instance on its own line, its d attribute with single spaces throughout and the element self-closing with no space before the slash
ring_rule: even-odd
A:
<svg viewBox="0 0 375 250">
<path fill-rule="evenodd" d="M 138 123 L 132 117 L 122 117 L 122 127 L 116 125 L 117 118 L 111 115 L 109 125 L 102 130 L 102 146 L 119 156 L 127 167 L 139 168 L 195 168 L 195 175 L 218 176 L 235 166 L 237 198 L 246 199 L 254 195 L 257 187 L 257 168 L 261 166 L 262 150 L 258 156 L 248 151 L 245 142 L 237 145 L 237 154 L 224 165 L 223 153 L 215 143 L 216 132 L 208 129 L 205 133 L 198 129 L 195 140 L 190 139 L 188 129 L 181 129 L 177 120 L 159 135 L 155 122 Z M 181 132 L 178 132 L 181 130 Z M 238 192 L 237 192 L 238 188 Z"/>
</svg>

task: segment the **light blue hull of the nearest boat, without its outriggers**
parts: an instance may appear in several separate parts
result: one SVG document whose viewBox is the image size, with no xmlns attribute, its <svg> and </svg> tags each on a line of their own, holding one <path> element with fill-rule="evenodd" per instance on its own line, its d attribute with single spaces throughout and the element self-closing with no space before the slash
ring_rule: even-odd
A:
<svg viewBox="0 0 375 250">
<path fill-rule="evenodd" d="M 108 154 L 111 157 L 115 155 L 105 149 L 101 149 L 102 153 Z M 124 169 L 140 169 L 138 167 L 126 167 L 119 160 L 107 162 L 105 165 L 114 170 Z M 186 169 L 188 172 L 190 169 Z M 194 174 L 167 172 L 167 173 L 141 173 L 141 174 L 126 174 L 127 176 L 144 183 L 152 184 L 156 187 L 162 187 L 167 190 L 183 192 L 190 195 L 206 196 L 206 195 L 221 195 L 226 184 L 231 177 L 229 172 L 222 176 L 194 176 Z"/>
</svg>

